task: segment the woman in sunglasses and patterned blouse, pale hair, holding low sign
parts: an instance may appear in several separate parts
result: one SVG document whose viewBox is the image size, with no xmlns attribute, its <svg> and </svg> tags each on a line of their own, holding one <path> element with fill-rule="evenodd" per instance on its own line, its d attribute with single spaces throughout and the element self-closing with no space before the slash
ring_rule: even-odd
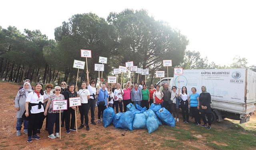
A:
<svg viewBox="0 0 256 150">
<path fill-rule="evenodd" d="M 49 97 L 49 100 L 46 104 L 46 108 L 44 110 L 44 116 L 48 116 L 48 138 L 54 139 L 60 137 L 60 114 L 63 113 L 63 110 L 52 110 L 52 100 L 65 100 L 64 95 L 60 94 L 61 88 L 60 86 L 55 86 L 54 92 Z M 55 135 L 53 134 L 53 127 L 55 124 Z"/>
</svg>

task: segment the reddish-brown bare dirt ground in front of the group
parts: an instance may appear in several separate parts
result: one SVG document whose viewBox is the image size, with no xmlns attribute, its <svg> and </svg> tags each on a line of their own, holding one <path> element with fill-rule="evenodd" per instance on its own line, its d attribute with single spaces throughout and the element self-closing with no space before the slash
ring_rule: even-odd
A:
<svg viewBox="0 0 256 150">
<path fill-rule="evenodd" d="M 48 138 L 48 132 L 42 130 L 39 136 L 40 140 L 33 140 L 32 143 L 27 143 L 27 135 L 23 133 L 22 135 L 16 136 L 16 110 L 14 109 L 13 99 L 17 94 L 19 88 L 18 84 L 12 84 L 3 82 L 0 83 L 0 149 L 6 150 L 61 150 L 61 149 L 70 149 L 70 150 L 158 150 L 158 149 L 171 149 L 161 146 L 160 141 L 172 141 L 175 140 L 174 137 L 165 136 L 166 132 L 163 132 L 167 126 L 161 126 L 158 130 L 152 134 L 148 134 L 147 130 L 120 130 L 114 128 L 111 124 L 109 127 L 104 128 L 102 123 L 97 125 L 90 124 L 90 130 L 86 131 L 85 128 L 78 130 L 78 133 L 71 131 L 70 134 L 66 134 L 65 128 L 61 128 L 61 140 L 50 139 Z M 90 113 L 90 112 L 89 112 Z M 95 112 L 97 116 L 97 108 Z M 90 123 L 90 114 L 89 123 Z M 181 114 L 180 114 L 181 116 Z M 97 117 L 96 117 L 97 118 Z M 181 117 L 180 117 L 181 118 Z M 181 120 L 181 119 L 180 119 Z M 191 122 L 192 119 L 190 119 Z M 221 123 L 215 123 L 212 125 L 212 128 L 216 130 L 225 130 L 231 128 L 233 124 L 238 124 L 239 121 L 225 119 Z M 250 124 L 256 123 L 256 115 L 250 118 Z M 248 126 L 251 126 L 251 125 Z M 77 126 L 80 125 L 80 115 L 77 113 Z M 178 122 L 176 124 L 177 129 L 188 128 L 192 126 L 190 124 L 183 124 Z M 247 126 L 247 123 L 244 125 Z M 45 121 L 43 129 L 45 128 Z M 254 126 L 255 129 L 255 126 Z M 125 135 L 122 136 L 122 133 Z M 193 131 L 192 131 L 193 133 Z M 197 138 L 204 139 L 207 134 L 198 135 L 195 134 Z M 211 150 L 212 147 L 209 147 L 206 144 L 205 140 L 184 140 L 179 141 L 184 144 L 181 149 L 205 149 Z M 220 143 L 218 143 L 220 144 Z M 225 145 L 225 143 L 223 143 Z M 177 148 L 175 148 L 177 149 Z M 180 149 L 180 148 L 179 148 Z"/>
</svg>

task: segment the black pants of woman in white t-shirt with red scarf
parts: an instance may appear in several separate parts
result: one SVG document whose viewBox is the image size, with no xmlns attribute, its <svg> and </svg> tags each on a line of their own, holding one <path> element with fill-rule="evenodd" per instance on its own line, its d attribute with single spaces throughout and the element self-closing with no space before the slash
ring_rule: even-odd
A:
<svg viewBox="0 0 256 150">
<path fill-rule="evenodd" d="M 40 112 L 37 114 L 29 114 L 28 117 L 28 137 L 36 135 L 37 129 L 41 125 L 42 116 L 44 116 L 44 112 Z"/>
</svg>

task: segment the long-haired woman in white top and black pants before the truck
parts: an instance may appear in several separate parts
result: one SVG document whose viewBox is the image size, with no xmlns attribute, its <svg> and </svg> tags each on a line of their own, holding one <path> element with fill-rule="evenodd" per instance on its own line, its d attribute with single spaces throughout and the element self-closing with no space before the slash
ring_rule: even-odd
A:
<svg viewBox="0 0 256 150">
<path fill-rule="evenodd" d="M 187 92 L 186 86 L 182 87 L 182 92 L 179 93 L 180 98 L 182 99 L 180 102 L 181 111 L 182 111 L 182 117 L 183 117 L 183 123 L 189 123 L 189 115 L 188 115 L 188 108 L 190 108 L 190 100 L 189 100 L 189 94 Z"/>
</svg>

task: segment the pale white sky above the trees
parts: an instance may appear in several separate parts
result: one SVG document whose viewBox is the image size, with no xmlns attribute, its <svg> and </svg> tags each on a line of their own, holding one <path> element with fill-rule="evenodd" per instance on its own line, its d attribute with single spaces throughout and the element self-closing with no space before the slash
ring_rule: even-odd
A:
<svg viewBox="0 0 256 150">
<path fill-rule="evenodd" d="M 126 8 L 148 10 L 187 36 L 186 50 L 199 51 L 208 62 L 229 66 L 234 57 L 256 65 L 256 1 L 254 0 L 4 0 L 0 26 L 40 30 L 54 39 L 54 28 L 74 14 L 92 12 L 107 18 Z"/>
</svg>

